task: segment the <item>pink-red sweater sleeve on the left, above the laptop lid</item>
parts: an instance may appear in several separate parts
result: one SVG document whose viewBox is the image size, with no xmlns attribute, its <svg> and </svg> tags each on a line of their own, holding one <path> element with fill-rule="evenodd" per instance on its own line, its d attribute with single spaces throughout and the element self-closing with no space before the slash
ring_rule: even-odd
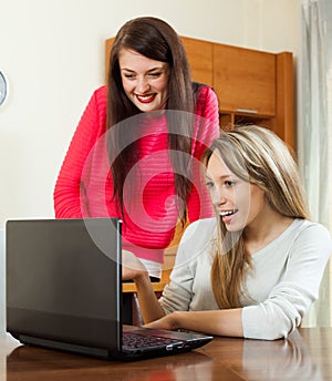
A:
<svg viewBox="0 0 332 381">
<path fill-rule="evenodd" d="M 62 163 L 53 193 L 56 218 L 86 216 L 82 172 L 86 158 L 105 130 L 106 87 L 96 90 L 81 117 L 65 158 Z"/>
</svg>

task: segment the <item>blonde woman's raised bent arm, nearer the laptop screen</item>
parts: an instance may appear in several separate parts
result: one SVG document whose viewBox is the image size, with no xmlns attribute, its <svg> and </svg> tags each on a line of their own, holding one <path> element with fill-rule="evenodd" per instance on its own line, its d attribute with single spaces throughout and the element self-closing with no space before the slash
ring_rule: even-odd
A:
<svg viewBox="0 0 332 381">
<path fill-rule="evenodd" d="M 175 265 L 170 274 L 170 282 L 165 287 L 163 296 L 157 300 L 153 291 L 147 272 L 141 260 L 132 253 L 123 250 L 123 279 L 133 279 L 137 287 L 138 301 L 145 322 L 158 320 L 166 313 L 175 311 L 188 311 L 201 306 L 201 301 L 214 300 L 208 291 L 194 300 L 193 295 L 199 294 L 199 290 L 209 285 L 209 265 L 203 264 L 199 267 L 200 280 L 194 287 L 194 278 L 197 268 L 197 258 L 207 259 L 205 250 L 209 250 L 208 243 L 215 234 L 215 218 L 205 219 L 190 224 L 183 235 L 179 248 L 176 255 Z M 199 235 L 197 234 L 199 231 Z M 200 256 L 200 254 L 203 254 Z M 208 305 L 206 309 L 217 309 L 216 303 Z"/>
</svg>

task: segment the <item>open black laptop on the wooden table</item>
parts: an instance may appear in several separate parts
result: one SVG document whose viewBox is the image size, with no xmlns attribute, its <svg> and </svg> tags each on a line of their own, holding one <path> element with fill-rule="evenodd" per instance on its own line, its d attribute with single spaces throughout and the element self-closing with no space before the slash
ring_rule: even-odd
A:
<svg viewBox="0 0 332 381">
<path fill-rule="evenodd" d="M 135 360 L 199 348 L 195 332 L 123 328 L 121 220 L 8 220 L 7 331 L 24 344 Z"/>
</svg>

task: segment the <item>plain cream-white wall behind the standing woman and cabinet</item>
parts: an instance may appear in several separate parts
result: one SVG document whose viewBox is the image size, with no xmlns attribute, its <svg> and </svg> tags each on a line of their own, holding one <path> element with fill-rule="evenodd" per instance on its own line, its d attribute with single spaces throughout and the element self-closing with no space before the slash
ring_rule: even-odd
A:
<svg viewBox="0 0 332 381">
<path fill-rule="evenodd" d="M 179 34 L 271 52 L 299 50 L 300 0 L 0 0 L 0 228 L 52 217 L 61 162 L 92 91 L 104 41 L 156 16 Z"/>
</svg>

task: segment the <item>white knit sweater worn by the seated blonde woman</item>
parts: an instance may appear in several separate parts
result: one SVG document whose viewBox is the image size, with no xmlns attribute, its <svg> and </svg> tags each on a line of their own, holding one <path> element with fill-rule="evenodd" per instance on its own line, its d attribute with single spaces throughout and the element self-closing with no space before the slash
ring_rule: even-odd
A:
<svg viewBox="0 0 332 381">
<path fill-rule="evenodd" d="M 210 285 L 215 238 L 215 218 L 197 220 L 186 229 L 170 282 L 159 299 L 166 313 L 218 309 Z M 245 338 L 287 338 L 318 298 L 331 253 L 328 229 L 302 219 L 294 219 L 255 253 L 241 298 Z"/>
</svg>

